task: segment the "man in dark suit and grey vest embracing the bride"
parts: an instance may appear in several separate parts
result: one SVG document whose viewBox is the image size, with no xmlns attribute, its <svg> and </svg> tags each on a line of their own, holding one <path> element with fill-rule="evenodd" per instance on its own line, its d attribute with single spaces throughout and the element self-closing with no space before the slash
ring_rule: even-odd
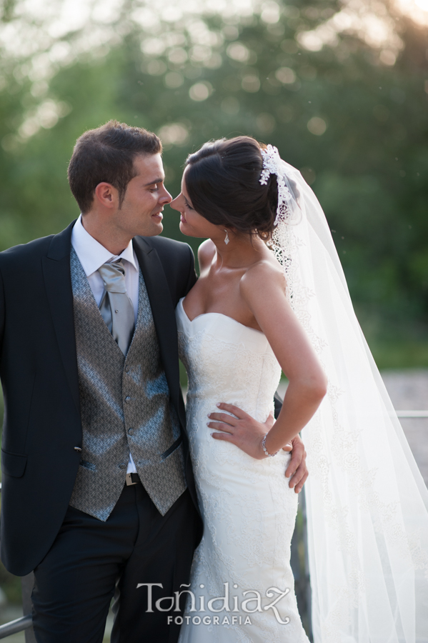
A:
<svg viewBox="0 0 428 643">
<path fill-rule="evenodd" d="M 39 643 L 101 642 L 114 594 L 111 641 L 173 643 L 147 597 L 188 582 L 201 538 L 174 316 L 194 257 L 157 236 L 171 196 L 155 134 L 86 131 L 69 184 L 79 219 L 0 254 L 1 559 L 34 569 Z"/>
</svg>

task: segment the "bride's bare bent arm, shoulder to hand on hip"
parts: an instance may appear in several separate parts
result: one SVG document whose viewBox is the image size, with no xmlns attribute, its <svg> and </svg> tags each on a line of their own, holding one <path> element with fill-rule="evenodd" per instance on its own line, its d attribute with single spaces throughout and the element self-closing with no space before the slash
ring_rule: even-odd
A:
<svg viewBox="0 0 428 643">
<path fill-rule="evenodd" d="M 242 278 L 241 294 L 289 379 L 289 386 L 277 422 L 270 431 L 266 424 L 229 404 L 221 404 L 219 408 L 237 415 L 237 420 L 231 420 L 226 414 L 210 417 L 220 423 L 216 422 L 212 428 L 222 431 L 213 437 L 233 442 L 252 457 L 262 459 L 267 457 L 262 449 L 264 434 L 268 432 L 265 446 L 269 454 L 278 452 L 297 436 L 321 404 L 327 392 L 327 379 L 287 301 L 284 274 L 280 269 L 267 262 L 257 264 Z"/>
</svg>

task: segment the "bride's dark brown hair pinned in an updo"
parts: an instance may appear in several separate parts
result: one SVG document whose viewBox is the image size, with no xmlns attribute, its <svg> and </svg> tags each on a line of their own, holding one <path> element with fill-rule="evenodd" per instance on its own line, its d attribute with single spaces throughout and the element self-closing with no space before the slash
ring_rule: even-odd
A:
<svg viewBox="0 0 428 643">
<path fill-rule="evenodd" d="M 209 141 L 187 157 L 185 181 L 191 204 L 204 219 L 267 241 L 274 231 L 278 191 L 274 174 L 267 185 L 260 183 L 261 146 L 251 136 Z"/>
</svg>

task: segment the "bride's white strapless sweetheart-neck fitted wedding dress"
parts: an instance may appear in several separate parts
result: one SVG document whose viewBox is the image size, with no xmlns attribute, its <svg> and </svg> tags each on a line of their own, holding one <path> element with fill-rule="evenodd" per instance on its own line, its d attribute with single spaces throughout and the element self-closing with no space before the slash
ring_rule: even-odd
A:
<svg viewBox="0 0 428 643">
<path fill-rule="evenodd" d="M 309 643 L 289 564 L 297 515 L 297 494 L 284 476 L 290 456 L 256 460 L 207 427 L 217 402 L 265 422 L 281 375 L 277 359 L 262 332 L 232 317 L 206 313 L 190 321 L 181 299 L 176 321 L 204 519 L 189 588 L 194 606 L 188 594 L 179 643 Z"/>
</svg>

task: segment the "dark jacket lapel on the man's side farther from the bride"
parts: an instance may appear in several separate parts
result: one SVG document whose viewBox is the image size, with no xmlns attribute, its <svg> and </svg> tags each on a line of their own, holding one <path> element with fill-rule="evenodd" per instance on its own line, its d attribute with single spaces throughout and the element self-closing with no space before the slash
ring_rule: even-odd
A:
<svg viewBox="0 0 428 643">
<path fill-rule="evenodd" d="M 71 389 L 71 396 L 76 409 L 80 412 L 70 274 L 70 246 L 73 226 L 74 221 L 53 237 L 47 256 L 42 258 L 42 269 L 59 352 Z"/>
</svg>

